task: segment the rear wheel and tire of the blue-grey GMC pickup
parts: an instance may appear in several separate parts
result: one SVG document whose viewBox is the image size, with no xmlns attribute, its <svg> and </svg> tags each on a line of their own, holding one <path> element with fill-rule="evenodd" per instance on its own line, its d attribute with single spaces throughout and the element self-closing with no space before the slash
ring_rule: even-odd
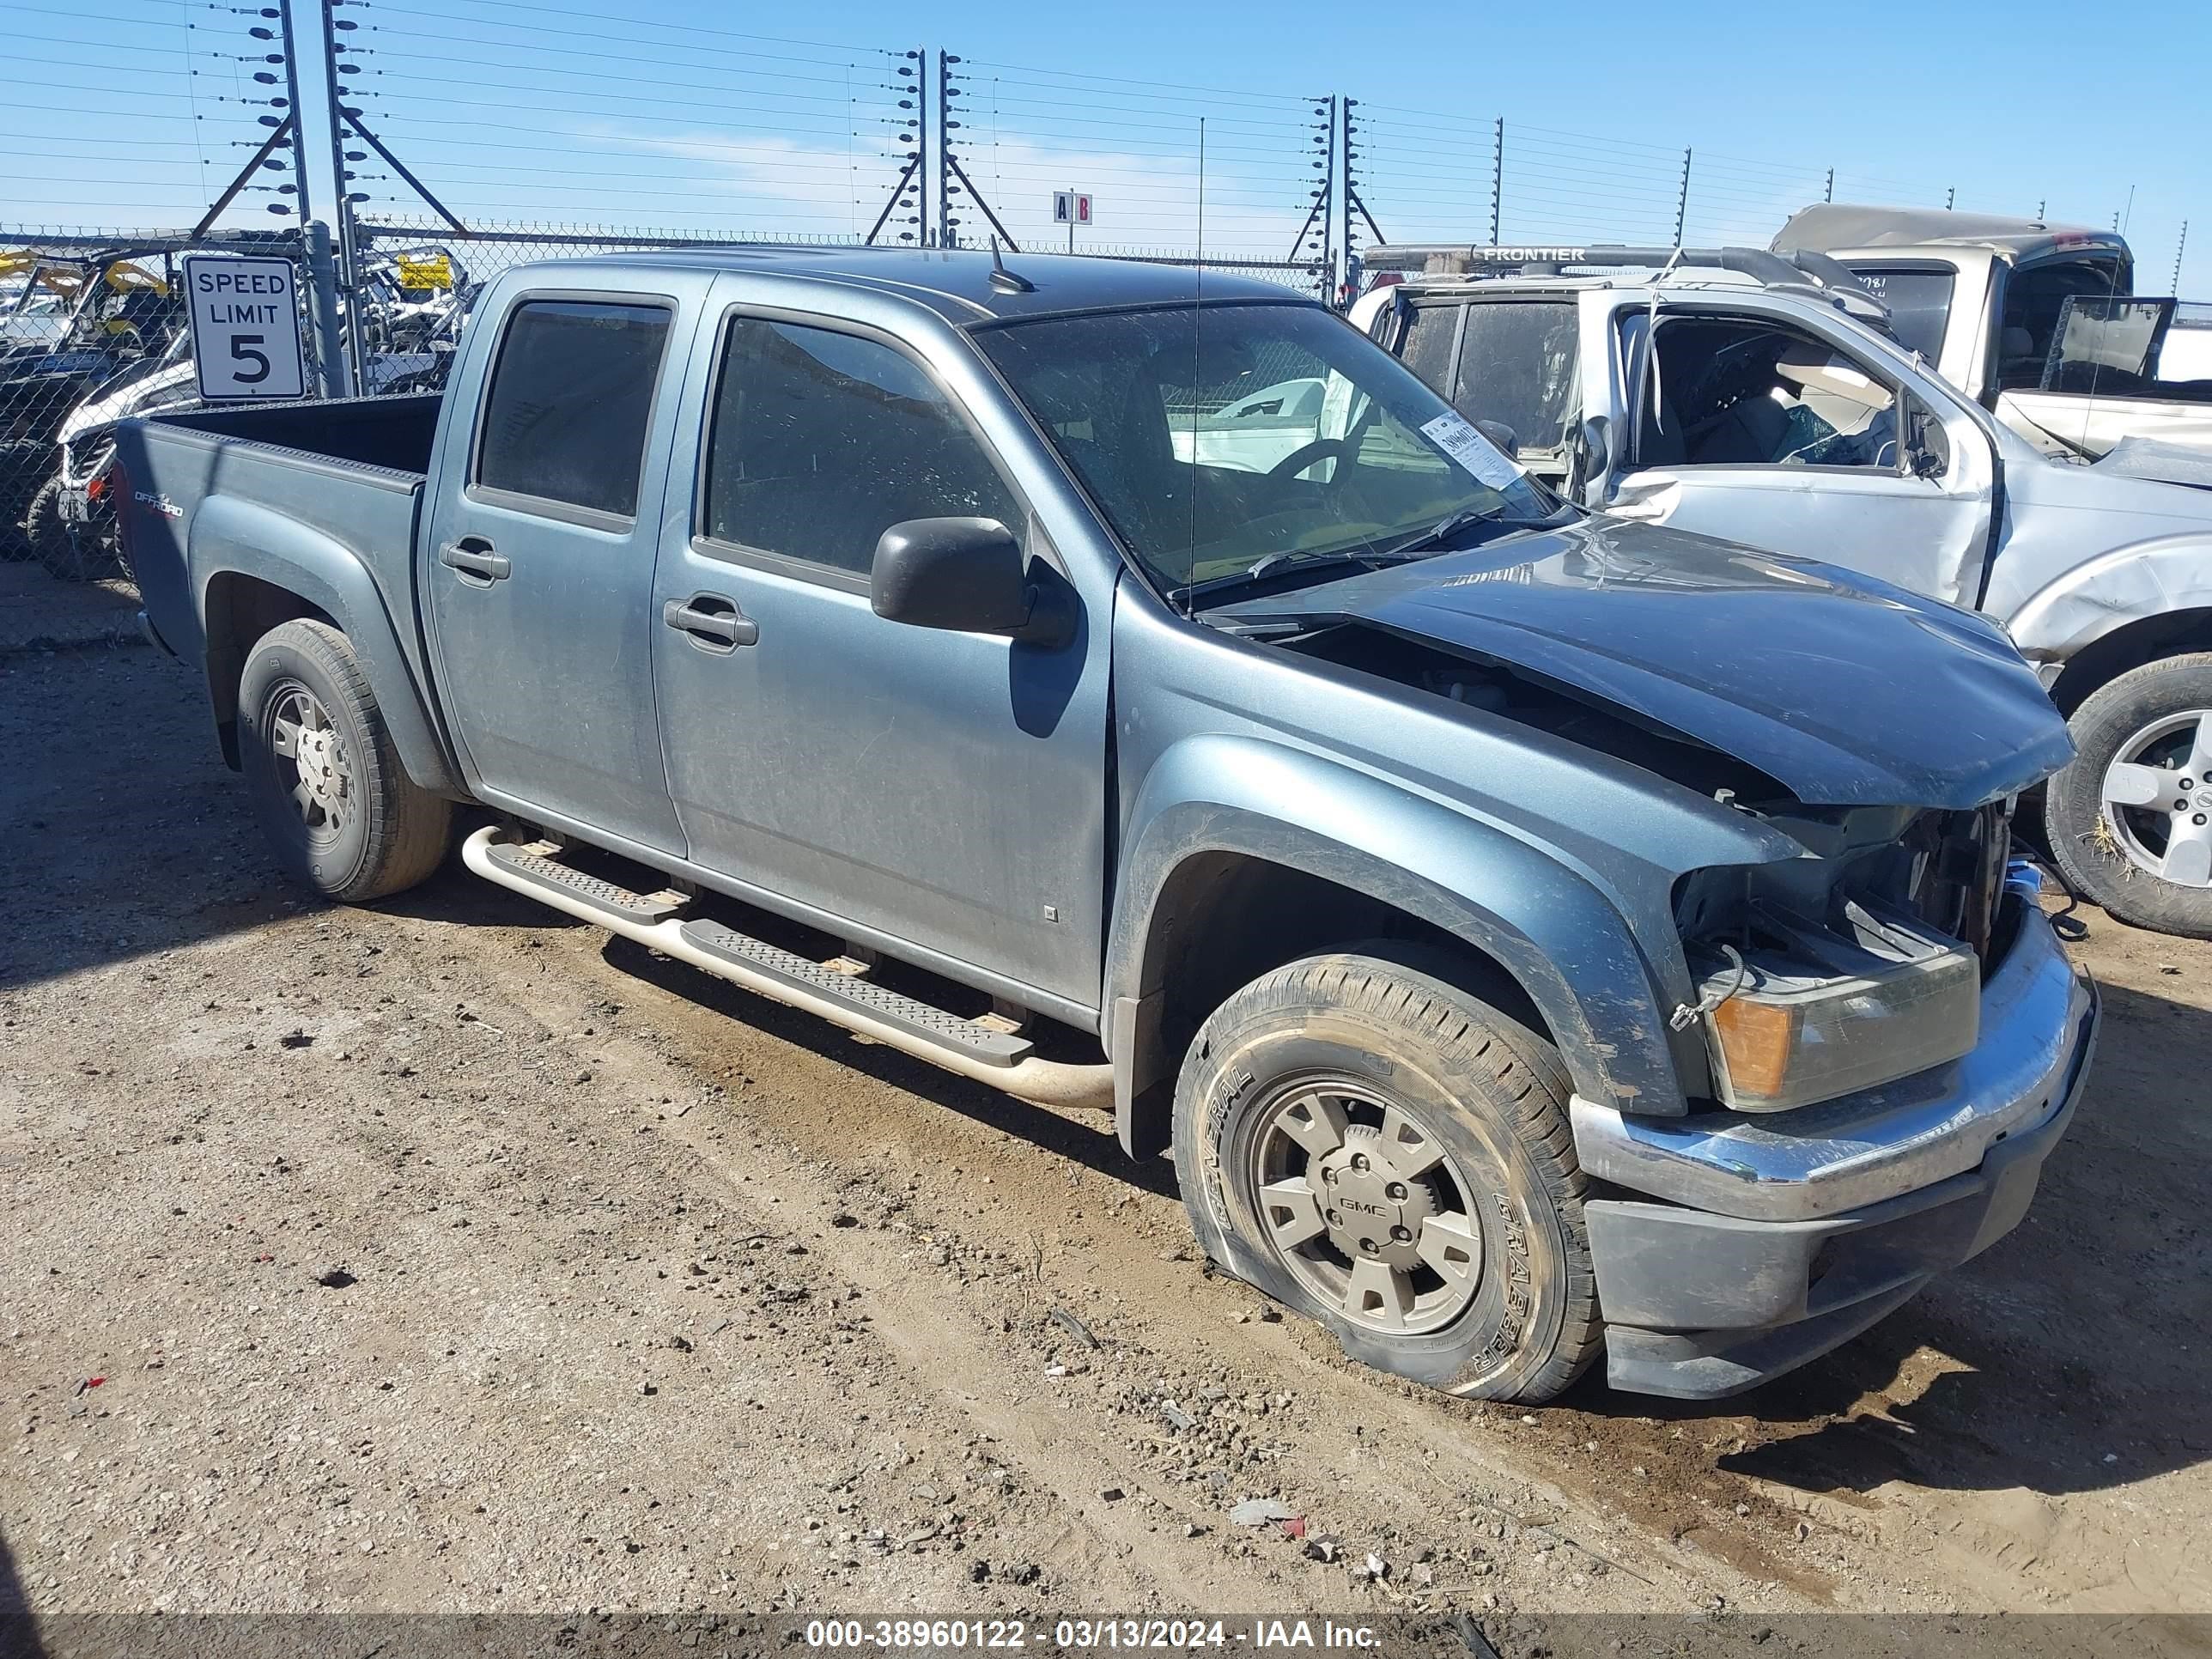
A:
<svg viewBox="0 0 2212 1659">
<path fill-rule="evenodd" d="M 407 776 L 345 635 L 285 622 L 239 677 L 239 759 L 276 856 L 325 898 L 414 887 L 445 858 L 453 807 Z"/>
</svg>

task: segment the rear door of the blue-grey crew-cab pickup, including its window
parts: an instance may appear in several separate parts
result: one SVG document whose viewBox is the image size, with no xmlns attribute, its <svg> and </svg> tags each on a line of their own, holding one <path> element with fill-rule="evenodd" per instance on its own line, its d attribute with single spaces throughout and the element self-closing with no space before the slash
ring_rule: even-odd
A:
<svg viewBox="0 0 2212 1659">
<path fill-rule="evenodd" d="M 653 553 L 686 341 L 666 294 L 520 294 L 456 376 L 422 564 L 438 684 L 493 805 L 681 852 L 653 717 Z M 703 292 L 706 279 L 692 279 Z"/>
</svg>

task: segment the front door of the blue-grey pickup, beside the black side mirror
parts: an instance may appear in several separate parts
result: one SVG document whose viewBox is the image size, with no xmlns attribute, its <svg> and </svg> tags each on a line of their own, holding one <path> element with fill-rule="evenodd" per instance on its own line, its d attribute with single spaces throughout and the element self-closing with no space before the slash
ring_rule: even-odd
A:
<svg viewBox="0 0 2212 1659">
<path fill-rule="evenodd" d="M 655 591 L 661 745 L 692 863 L 1029 1006 L 1095 1009 L 1104 615 L 1046 646 L 869 608 L 876 540 L 900 520 L 993 518 L 1033 571 L 1057 564 L 956 392 L 982 367 L 962 369 L 962 349 L 940 374 L 814 312 L 732 305 L 714 330 L 686 392 L 699 482 L 688 511 L 670 491 Z"/>
</svg>

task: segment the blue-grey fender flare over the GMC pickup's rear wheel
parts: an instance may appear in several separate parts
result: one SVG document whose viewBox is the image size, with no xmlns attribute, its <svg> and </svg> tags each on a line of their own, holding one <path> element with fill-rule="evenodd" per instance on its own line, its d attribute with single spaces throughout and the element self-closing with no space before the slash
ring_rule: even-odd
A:
<svg viewBox="0 0 2212 1659">
<path fill-rule="evenodd" d="M 376 690 L 376 706 L 383 710 L 392 748 L 398 750 L 407 776 L 436 794 L 467 796 L 460 772 L 438 734 L 429 699 L 407 664 L 398 624 L 376 588 L 376 577 L 349 549 L 270 507 L 239 495 L 210 495 L 192 515 L 190 568 L 199 586 L 199 626 L 208 641 L 204 653 L 208 692 L 217 710 L 230 706 L 237 686 L 215 684 L 217 664 L 223 659 L 215 641 L 223 622 L 208 611 L 210 593 L 219 575 L 248 575 L 296 593 L 345 633 Z M 250 650 L 252 639 L 243 639 L 239 646 Z"/>
</svg>

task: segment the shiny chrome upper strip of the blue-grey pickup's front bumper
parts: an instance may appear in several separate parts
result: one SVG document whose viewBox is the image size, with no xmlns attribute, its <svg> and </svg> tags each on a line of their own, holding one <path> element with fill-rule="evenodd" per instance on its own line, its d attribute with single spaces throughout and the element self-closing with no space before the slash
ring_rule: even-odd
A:
<svg viewBox="0 0 2212 1659">
<path fill-rule="evenodd" d="M 1697 1210 L 1812 1221 L 1982 1164 L 2051 1117 L 2088 1068 L 2097 993 L 2015 894 L 2013 947 L 1982 987 L 1982 1040 L 1947 1066 L 1792 1113 L 1630 1117 L 1575 1097 L 1582 1168 Z"/>
</svg>

